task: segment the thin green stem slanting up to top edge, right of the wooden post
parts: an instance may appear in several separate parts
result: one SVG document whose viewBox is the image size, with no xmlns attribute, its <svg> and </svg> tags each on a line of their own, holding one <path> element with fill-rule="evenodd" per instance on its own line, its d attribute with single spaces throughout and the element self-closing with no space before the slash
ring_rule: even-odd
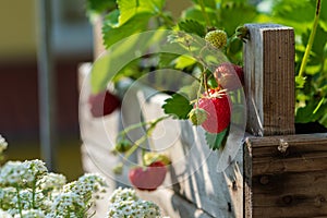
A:
<svg viewBox="0 0 327 218">
<path fill-rule="evenodd" d="M 318 23 L 319 23 L 319 15 L 320 15 L 320 9 L 322 9 L 320 3 L 322 3 L 322 0 L 317 0 L 315 19 L 314 19 L 312 32 L 310 34 L 308 41 L 307 41 L 307 45 L 306 45 L 306 48 L 305 48 L 305 52 L 304 52 L 304 56 L 303 56 L 303 59 L 302 59 L 302 62 L 301 62 L 301 66 L 300 66 L 300 71 L 299 71 L 299 77 L 303 77 L 304 69 L 306 66 L 306 63 L 307 63 L 307 60 L 308 60 L 308 57 L 310 57 L 310 51 L 311 51 L 312 45 L 314 43 L 317 26 L 318 26 Z"/>
</svg>

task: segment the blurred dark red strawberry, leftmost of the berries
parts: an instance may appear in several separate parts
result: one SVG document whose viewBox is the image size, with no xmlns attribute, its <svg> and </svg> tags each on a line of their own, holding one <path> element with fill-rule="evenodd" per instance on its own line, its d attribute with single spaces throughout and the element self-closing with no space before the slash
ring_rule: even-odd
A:
<svg viewBox="0 0 327 218">
<path fill-rule="evenodd" d="M 110 114 L 117 108 L 120 107 L 120 99 L 109 93 L 104 90 L 99 94 L 94 94 L 88 97 L 88 104 L 90 105 L 90 113 L 95 118 Z"/>
</svg>

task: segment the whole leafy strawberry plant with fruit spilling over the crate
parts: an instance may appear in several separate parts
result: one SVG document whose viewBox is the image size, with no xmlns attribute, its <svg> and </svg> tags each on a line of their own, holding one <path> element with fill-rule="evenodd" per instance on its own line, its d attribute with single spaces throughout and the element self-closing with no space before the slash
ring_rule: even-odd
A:
<svg viewBox="0 0 327 218">
<path fill-rule="evenodd" d="M 162 105 L 166 116 L 129 126 L 117 138 L 114 152 L 122 154 L 124 159 L 140 147 L 144 150 L 143 167 L 131 171 L 130 179 L 136 187 L 140 181 L 134 174 L 152 174 L 150 166 L 156 162 L 144 161 L 145 150 L 150 149 L 145 148 L 147 138 L 156 125 L 168 118 L 201 125 L 209 148 L 223 149 L 231 126 L 244 112 L 242 46 L 249 39 L 244 23 L 275 22 L 294 27 L 294 64 L 300 72 L 294 77 L 299 84 L 295 119 L 301 123 L 317 121 L 327 126 L 327 16 L 319 14 L 327 8 L 326 1 L 249 2 L 192 0 L 179 17 L 170 14 L 165 0 L 117 0 L 116 8 L 101 8 L 102 37 L 108 55 L 94 64 L 93 93 L 104 92 L 108 82 L 119 89 L 120 82 L 126 77 L 140 81 L 148 75 L 146 85 L 170 95 Z M 159 69 L 183 71 L 193 81 L 174 88 L 179 83 L 175 74 L 150 76 L 150 72 Z M 136 142 L 128 142 L 128 133 L 138 128 L 144 129 L 145 134 Z M 121 172 L 123 164 L 120 162 L 114 171 Z M 160 173 L 165 174 L 164 170 Z"/>
</svg>

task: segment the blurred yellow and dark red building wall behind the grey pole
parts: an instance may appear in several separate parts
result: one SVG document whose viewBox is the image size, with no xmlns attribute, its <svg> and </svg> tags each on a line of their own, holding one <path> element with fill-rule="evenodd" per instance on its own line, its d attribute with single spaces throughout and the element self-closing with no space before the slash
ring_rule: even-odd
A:
<svg viewBox="0 0 327 218">
<path fill-rule="evenodd" d="M 37 50 L 40 0 L 0 0 L 0 134 L 7 159 L 40 158 Z M 93 31 L 84 0 L 51 1 L 56 96 L 56 169 L 82 173 L 77 68 L 93 60 Z"/>
</svg>

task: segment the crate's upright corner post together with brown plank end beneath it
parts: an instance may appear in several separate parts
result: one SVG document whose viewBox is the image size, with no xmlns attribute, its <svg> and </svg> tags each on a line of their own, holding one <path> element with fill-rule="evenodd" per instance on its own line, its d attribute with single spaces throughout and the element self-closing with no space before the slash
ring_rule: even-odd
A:
<svg viewBox="0 0 327 218">
<path fill-rule="evenodd" d="M 294 133 L 294 34 L 246 25 L 244 216 L 327 217 L 327 133 Z M 271 136 L 270 136 L 271 135 Z"/>
</svg>

